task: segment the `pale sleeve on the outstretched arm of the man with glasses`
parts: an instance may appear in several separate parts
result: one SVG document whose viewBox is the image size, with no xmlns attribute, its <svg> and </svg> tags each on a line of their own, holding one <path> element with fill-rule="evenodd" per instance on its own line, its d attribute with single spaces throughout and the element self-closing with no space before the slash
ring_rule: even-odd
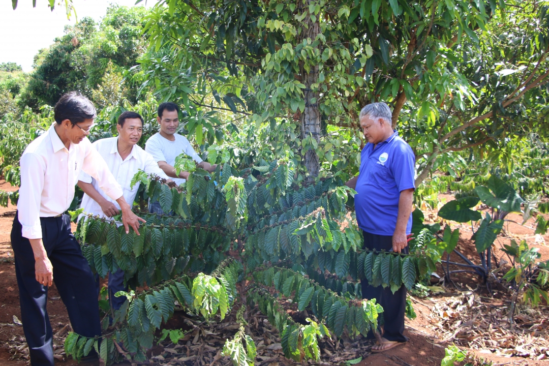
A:
<svg viewBox="0 0 549 366">
<path fill-rule="evenodd" d="M 124 194 L 122 187 L 116 182 L 113 173 L 110 172 L 107 163 L 103 160 L 103 156 L 91 145 L 86 151 L 82 170 L 95 178 L 99 183 L 99 188 L 111 199 L 117 200 Z"/>
</svg>

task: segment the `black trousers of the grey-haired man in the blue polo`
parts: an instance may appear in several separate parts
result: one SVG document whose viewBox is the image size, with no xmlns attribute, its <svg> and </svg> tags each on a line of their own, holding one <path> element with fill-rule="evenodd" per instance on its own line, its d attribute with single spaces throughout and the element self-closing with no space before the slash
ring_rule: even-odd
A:
<svg viewBox="0 0 549 366">
<path fill-rule="evenodd" d="M 365 250 L 385 250 L 393 249 L 393 237 L 377 235 L 362 232 L 364 237 Z M 403 253 L 408 254 L 406 246 Z M 404 336 L 404 315 L 406 310 L 406 287 L 401 286 L 394 294 L 390 287 L 373 287 L 368 284 L 367 279 L 361 280 L 362 299 L 376 299 L 376 302 L 383 307 L 384 333 L 383 337 L 388 341 L 406 342 L 408 339 Z M 373 334 L 370 332 L 368 338 Z"/>
</svg>

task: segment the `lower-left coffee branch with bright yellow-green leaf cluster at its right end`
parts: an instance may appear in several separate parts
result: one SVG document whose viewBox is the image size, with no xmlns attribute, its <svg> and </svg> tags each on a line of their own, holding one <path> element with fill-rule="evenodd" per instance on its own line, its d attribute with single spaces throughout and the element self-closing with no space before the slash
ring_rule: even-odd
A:
<svg viewBox="0 0 549 366">
<path fill-rule="evenodd" d="M 234 299 L 238 271 L 237 263 L 229 260 L 221 263 L 214 271 L 215 277 L 200 273 L 192 280 L 183 275 L 164 281 L 162 285 L 147 291 L 126 294 L 128 300 L 114 312 L 113 325 L 102 336 L 99 350 L 96 339 L 70 333 L 65 341 L 66 352 L 80 359 L 86 356 L 93 345 L 99 357 L 107 363 L 124 358 L 144 361 L 146 350 L 153 345 L 156 329 L 172 316 L 175 301 L 189 311 L 207 316 L 212 316 L 221 309 L 223 316 L 223 311 L 226 311 Z M 189 290 L 191 283 L 192 290 Z M 220 299 L 227 301 L 225 308 L 221 306 L 223 300 Z M 177 343 L 184 334 L 180 330 L 173 330 L 163 332 L 162 339 L 166 336 L 170 336 L 170 340 Z"/>
</svg>

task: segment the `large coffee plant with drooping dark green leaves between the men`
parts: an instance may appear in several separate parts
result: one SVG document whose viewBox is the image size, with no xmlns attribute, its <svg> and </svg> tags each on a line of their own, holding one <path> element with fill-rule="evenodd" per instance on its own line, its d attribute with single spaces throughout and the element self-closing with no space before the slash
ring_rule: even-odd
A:
<svg viewBox="0 0 549 366">
<path fill-rule="evenodd" d="M 118 294 L 127 301 L 109 310 L 112 320 L 105 316 L 100 339 L 71 334 L 65 350 L 74 358 L 95 348 L 107 363 L 142 361 L 178 304 L 207 321 L 240 307 L 241 324 L 245 309 L 257 305 L 281 334 L 286 357 L 318 359 L 318 339 L 330 332 L 377 330 L 383 309 L 361 299 L 358 280 L 396 291 L 435 270 L 422 246 L 410 255 L 362 250 L 349 197 L 354 191 L 338 178 L 298 186 L 287 159 L 261 160 L 242 171 L 225 162 L 214 173 L 182 157 L 177 165 L 191 171 L 180 187 L 144 172 L 134 177 L 133 184 L 143 184 L 148 197 L 172 213 L 140 213 L 147 223 L 139 235 L 126 234 L 119 222 L 80 219 L 77 238 L 92 270 L 104 277 L 122 268 L 132 289 L 148 288 Z M 290 317 L 281 299 L 312 314 L 307 323 Z M 227 340 L 223 354 L 235 365 L 253 364 L 255 345 L 244 328 Z"/>
</svg>

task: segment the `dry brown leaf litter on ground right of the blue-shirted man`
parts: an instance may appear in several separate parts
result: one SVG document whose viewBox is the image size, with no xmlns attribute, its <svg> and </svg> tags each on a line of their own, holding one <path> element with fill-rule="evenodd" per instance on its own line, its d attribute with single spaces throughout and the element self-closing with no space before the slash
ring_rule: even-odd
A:
<svg viewBox="0 0 549 366">
<path fill-rule="evenodd" d="M 501 357 L 549 358 L 549 308 L 519 307 L 511 326 L 508 303 L 473 291 L 430 298 L 427 328 L 435 343 L 471 348 Z M 415 302 L 422 302 L 414 299 Z M 424 303 L 424 305 L 427 305 Z M 429 306 L 428 306 L 429 307 Z M 518 309 L 517 309 L 518 310 Z"/>
</svg>

